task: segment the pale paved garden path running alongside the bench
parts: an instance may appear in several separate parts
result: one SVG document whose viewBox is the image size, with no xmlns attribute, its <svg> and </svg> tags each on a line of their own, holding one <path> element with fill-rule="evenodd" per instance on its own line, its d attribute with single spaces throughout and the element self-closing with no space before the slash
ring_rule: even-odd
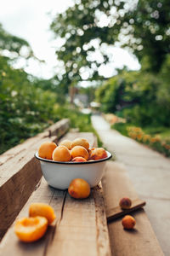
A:
<svg viewBox="0 0 170 256">
<path fill-rule="evenodd" d="M 170 252 L 170 160 L 156 151 L 112 130 L 102 116 L 93 115 L 92 123 L 104 147 L 116 154 L 116 161 L 127 169 L 146 201 L 145 212 L 165 255 Z"/>
</svg>

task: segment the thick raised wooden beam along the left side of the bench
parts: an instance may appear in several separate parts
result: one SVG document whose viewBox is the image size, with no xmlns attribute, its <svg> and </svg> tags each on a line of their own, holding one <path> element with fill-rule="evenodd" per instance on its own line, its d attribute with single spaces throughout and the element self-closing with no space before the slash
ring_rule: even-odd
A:
<svg viewBox="0 0 170 256">
<path fill-rule="evenodd" d="M 68 127 L 68 119 L 60 120 L 47 131 L 0 155 L 0 239 L 42 177 L 39 162 L 34 158 L 35 152 L 45 141 L 57 142 Z M 49 139 L 48 135 L 52 137 Z"/>
</svg>

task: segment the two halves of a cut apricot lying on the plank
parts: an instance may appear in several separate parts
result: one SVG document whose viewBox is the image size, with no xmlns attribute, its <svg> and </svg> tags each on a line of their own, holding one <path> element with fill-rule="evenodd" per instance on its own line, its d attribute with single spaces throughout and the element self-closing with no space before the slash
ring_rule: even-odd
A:
<svg viewBox="0 0 170 256">
<path fill-rule="evenodd" d="M 32 203 L 29 217 L 18 219 L 14 224 L 14 232 L 21 241 L 31 242 L 40 239 L 56 218 L 54 209 L 48 204 Z"/>
</svg>

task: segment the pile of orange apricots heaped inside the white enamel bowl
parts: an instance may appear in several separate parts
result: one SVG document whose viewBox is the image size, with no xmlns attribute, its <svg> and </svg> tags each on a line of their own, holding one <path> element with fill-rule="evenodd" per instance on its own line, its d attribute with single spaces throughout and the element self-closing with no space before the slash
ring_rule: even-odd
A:
<svg viewBox="0 0 170 256">
<path fill-rule="evenodd" d="M 42 143 L 38 155 L 54 161 L 86 162 L 107 157 L 104 148 L 89 148 L 88 140 L 77 138 L 74 141 L 64 140 L 59 146 L 53 142 Z"/>
</svg>

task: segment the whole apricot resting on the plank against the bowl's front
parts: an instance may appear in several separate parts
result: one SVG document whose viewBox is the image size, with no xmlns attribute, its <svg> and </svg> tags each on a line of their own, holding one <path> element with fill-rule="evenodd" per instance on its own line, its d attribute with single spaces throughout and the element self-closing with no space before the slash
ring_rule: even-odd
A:
<svg viewBox="0 0 170 256">
<path fill-rule="evenodd" d="M 77 199 L 87 198 L 90 195 L 90 186 L 84 179 L 75 178 L 71 181 L 68 192 Z"/>
</svg>

